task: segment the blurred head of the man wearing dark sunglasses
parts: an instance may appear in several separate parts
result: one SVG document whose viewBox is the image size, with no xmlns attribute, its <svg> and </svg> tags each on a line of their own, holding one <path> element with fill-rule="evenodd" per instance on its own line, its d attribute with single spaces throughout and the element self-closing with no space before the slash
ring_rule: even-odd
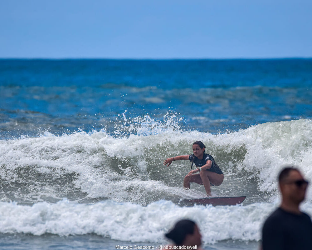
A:
<svg viewBox="0 0 312 250">
<path fill-rule="evenodd" d="M 299 205 L 305 199 L 308 182 L 297 168 L 284 168 L 278 176 L 278 183 L 283 199 L 288 202 Z"/>
</svg>

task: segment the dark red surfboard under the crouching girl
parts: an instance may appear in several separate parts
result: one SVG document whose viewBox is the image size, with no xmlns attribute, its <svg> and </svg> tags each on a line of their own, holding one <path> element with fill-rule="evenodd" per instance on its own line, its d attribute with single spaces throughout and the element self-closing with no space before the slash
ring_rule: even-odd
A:
<svg viewBox="0 0 312 250">
<path fill-rule="evenodd" d="M 197 205 L 212 205 L 212 206 L 226 206 L 237 205 L 245 200 L 246 196 L 237 197 L 206 197 L 201 199 L 182 200 L 180 205 L 182 206 L 194 206 Z"/>
</svg>

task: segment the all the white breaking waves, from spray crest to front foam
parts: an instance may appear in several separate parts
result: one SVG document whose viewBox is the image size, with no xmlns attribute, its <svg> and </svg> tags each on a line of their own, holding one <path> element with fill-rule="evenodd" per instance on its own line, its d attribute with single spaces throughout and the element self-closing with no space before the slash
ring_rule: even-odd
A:
<svg viewBox="0 0 312 250">
<path fill-rule="evenodd" d="M 126 242 L 163 243 L 164 233 L 182 218 L 196 221 L 203 242 L 260 240 L 261 225 L 279 203 L 276 176 L 294 164 L 312 178 L 312 120 L 264 123 L 233 133 L 183 131 L 142 122 L 135 134 L 112 136 L 104 129 L 0 144 L 1 233 L 59 236 L 94 233 Z M 161 127 L 161 128 L 160 128 Z M 183 189 L 188 161 L 163 159 L 191 153 L 197 139 L 218 159 L 225 181 L 214 196 L 246 195 L 237 206 L 181 207 L 183 198 L 204 189 Z M 311 187 L 305 212 L 312 214 Z"/>
</svg>

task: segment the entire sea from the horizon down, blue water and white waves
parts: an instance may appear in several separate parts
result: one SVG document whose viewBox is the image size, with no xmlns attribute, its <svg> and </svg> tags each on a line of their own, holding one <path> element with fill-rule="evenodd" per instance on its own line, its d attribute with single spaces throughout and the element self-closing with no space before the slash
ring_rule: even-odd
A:
<svg viewBox="0 0 312 250">
<path fill-rule="evenodd" d="M 257 249 L 282 166 L 312 178 L 311 87 L 311 59 L 0 60 L 0 248 L 158 247 L 191 218 L 204 249 Z M 197 140 L 243 204 L 179 206 L 205 190 L 162 162 Z"/>
</svg>

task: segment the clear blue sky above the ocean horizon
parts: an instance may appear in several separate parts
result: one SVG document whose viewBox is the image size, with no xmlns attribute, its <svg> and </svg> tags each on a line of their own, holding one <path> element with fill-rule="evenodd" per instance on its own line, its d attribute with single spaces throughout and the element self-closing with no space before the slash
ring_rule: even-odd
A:
<svg viewBox="0 0 312 250">
<path fill-rule="evenodd" d="M 0 58 L 312 57 L 312 1 L 0 0 Z"/>
</svg>

